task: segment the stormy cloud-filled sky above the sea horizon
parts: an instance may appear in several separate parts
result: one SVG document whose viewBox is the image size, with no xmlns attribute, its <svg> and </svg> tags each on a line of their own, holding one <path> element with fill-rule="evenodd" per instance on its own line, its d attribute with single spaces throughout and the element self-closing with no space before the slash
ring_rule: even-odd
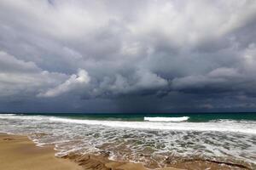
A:
<svg viewBox="0 0 256 170">
<path fill-rule="evenodd" d="M 0 0 L 0 111 L 256 111 L 256 1 Z"/>
</svg>

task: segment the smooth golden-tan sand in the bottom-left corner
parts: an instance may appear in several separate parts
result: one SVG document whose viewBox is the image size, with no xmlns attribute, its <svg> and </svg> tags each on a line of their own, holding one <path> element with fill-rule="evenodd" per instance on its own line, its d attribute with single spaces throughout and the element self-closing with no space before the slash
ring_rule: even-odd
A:
<svg viewBox="0 0 256 170">
<path fill-rule="evenodd" d="M 0 134 L 0 169 L 82 170 L 75 162 L 55 157 L 53 147 L 38 147 L 26 136 Z"/>
</svg>

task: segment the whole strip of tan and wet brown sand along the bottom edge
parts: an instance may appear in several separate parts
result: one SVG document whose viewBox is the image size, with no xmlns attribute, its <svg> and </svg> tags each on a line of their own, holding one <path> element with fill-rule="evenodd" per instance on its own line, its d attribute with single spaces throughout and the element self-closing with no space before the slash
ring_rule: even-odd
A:
<svg viewBox="0 0 256 170">
<path fill-rule="evenodd" d="M 228 164 L 211 160 L 183 160 L 169 157 L 166 167 L 148 168 L 142 163 L 131 161 L 112 161 L 108 153 L 100 155 L 78 155 L 69 153 L 67 156 L 56 157 L 54 146 L 37 146 L 27 136 L 0 133 L 0 169 L 6 170 L 43 170 L 45 165 L 49 170 L 182 170 L 207 169 L 212 170 L 242 170 L 250 169 L 240 164 Z M 174 162 L 174 163 L 173 163 Z"/>
</svg>

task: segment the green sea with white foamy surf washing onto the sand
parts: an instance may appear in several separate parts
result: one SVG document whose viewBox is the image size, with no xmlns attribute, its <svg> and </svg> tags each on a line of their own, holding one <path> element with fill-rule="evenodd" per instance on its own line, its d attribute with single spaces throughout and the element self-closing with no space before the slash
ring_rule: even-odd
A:
<svg viewBox="0 0 256 170">
<path fill-rule="evenodd" d="M 28 135 L 38 146 L 163 167 L 168 156 L 256 168 L 256 113 L 0 114 L 0 132 Z"/>
</svg>

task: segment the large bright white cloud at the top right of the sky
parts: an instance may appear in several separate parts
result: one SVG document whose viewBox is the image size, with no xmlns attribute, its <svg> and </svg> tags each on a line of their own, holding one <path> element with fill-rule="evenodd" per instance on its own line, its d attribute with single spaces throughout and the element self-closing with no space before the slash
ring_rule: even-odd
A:
<svg viewBox="0 0 256 170">
<path fill-rule="evenodd" d="M 162 37 L 177 48 L 193 48 L 245 26 L 255 11 L 253 1 L 151 1 L 129 28 L 138 37 L 152 35 L 148 39 Z"/>
</svg>

